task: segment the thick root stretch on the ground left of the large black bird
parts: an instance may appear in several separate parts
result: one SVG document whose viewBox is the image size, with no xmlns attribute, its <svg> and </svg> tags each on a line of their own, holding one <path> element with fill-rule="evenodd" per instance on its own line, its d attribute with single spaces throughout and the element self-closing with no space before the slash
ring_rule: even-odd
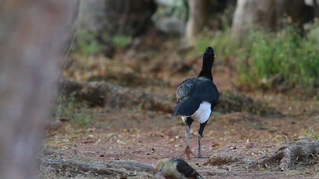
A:
<svg viewBox="0 0 319 179">
<path fill-rule="evenodd" d="M 146 110 L 172 112 L 174 102 L 167 96 L 146 93 L 139 89 L 129 89 L 107 82 L 77 83 L 61 80 L 59 89 L 65 95 L 89 101 L 92 106 L 128 107 L 141 105 Z"/>
</svg>

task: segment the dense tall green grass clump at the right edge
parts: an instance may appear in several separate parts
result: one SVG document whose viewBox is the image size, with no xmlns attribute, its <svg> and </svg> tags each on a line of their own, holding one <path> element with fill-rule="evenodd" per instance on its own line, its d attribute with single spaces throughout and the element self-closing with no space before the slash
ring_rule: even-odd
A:
<svg viewBox="0 0 319 179">
<path fill-rule="evenodd" d="M 294 26 L 277 33 L 251 31 L 245 58 L 239 58 L 237 63 L 239 83 L 254 89 L 278 85 L 288 89 L 318 86 L 319 38 L 312 34 L 319 30 L 319 25 L 312 26 L 304 37 Z"/>
</svg>

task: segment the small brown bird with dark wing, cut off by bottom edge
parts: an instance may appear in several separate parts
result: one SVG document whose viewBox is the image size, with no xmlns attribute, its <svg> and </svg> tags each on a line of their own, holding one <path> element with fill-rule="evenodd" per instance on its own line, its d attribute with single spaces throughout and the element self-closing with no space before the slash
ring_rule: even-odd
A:
<svg viewBox="0 0 319 179">
<path fill-rule="evenodd" d="M 176 158 L 160 160 L 155 166 L 155 173 L 165 179 L 203 179 L 187 162 Z"/>
</svg>

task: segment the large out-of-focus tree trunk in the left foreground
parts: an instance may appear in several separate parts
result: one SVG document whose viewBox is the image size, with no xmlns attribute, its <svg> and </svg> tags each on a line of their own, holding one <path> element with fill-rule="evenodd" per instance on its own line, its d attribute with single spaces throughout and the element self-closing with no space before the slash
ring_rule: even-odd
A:
<svg viewBox="0 0 319 179">
<path fill-rule="evenodd" d="M 14 0 L 0 24 L 0 175 L 32 179 L 78 0 Z"/>
</svg>

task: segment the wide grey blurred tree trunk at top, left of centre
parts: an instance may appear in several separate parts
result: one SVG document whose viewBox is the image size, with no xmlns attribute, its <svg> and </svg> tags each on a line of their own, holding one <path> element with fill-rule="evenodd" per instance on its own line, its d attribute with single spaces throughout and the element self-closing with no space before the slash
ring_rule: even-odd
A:
<svg viewBox="0 0 319 179">
<path fill-rule="evenodd" d="M 134 36 L 145 31 L 155 11 L 154 0 L 81 0 L 79 24 L 100 37 Z"/>
</svg>

